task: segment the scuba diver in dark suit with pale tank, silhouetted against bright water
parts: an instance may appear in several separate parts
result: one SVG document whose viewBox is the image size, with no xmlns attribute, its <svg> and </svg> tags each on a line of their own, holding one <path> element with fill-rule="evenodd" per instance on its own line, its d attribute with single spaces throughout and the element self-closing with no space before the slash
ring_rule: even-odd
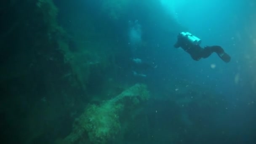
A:
<svg viewBox="0 0 256 144">
<path fill-rule="evenodd" d="M 217 53 L 218 56 L 226 63 L 228 63 L 231 59 L 231 57 L 227 53 L 225 53 L 221 46 L 213 45 L 205 46 L 204 48 L 202 48 L 200 46 L 201 40 L 189 32 L 181 32 L 179 33 L 177 38 L 178 40 L 174 47 L 181 47 L 182 49 L 184 49 L 184 51 L 189 53 L 192 59 L 194 59 L 195 61 L 198 61 L 201 58 L 208 58 L 213 52 Z"/>
</svg>

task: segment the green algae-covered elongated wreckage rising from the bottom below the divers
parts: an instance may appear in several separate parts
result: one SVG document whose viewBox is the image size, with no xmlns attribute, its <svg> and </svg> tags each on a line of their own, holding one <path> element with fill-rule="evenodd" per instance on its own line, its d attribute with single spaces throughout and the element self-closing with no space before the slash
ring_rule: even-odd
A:
<svg viewBox="0 0 256 144">
<path fill-rule="evenodd" d="M 136 84 L 118 96 L 100 105 L 89 105 L 73 123 L 73 130 L 64 139 L 67 143 L 85 142 L 89 138 L 93 144 L 104 144 L 121 130 L 121 112 L 149 99 L 149 91 L 144 84 Z"/>
</svg>

